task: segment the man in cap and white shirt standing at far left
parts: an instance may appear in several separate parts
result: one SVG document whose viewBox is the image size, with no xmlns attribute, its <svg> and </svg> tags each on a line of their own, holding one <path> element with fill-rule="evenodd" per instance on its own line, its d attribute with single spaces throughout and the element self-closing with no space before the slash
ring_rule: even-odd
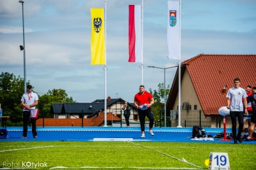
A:
<svg viewBox="0 0 256 170">
<path fill-rule="evenodd" d="M 36 105 L 38 104 L 38 96 L 35 92 L 33 92 L 31 85 L 27 86 L 27 92 L 22 95 L 20 101 L 23 110 L 23 135 L 21 138 L 27 138 L 30 112 L 31 110 L 35 110 Z M 36 118 L 30 118 L 30 122 L 32 124 L 33 137 L 38 138 L 36 132 Z"/>
</svg>

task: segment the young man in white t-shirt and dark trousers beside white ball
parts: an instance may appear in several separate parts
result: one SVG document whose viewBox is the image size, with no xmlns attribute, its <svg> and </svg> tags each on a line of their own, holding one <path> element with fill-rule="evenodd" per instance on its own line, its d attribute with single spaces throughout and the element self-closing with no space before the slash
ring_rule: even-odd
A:
<svg viewBox="0 0 256 170">
<path fill-rule="evenodd" d="M 230 118 L 232 122 L 232 134 L 234 138 L 234 143 L 237 143 L 237 140 L 242 143 L 243 139 L 241 138 L 241 133 L 243 132 L 243 113 L 245 112 L 248 115 L 247 111 L 247 94 L 245 90 L 240 86 L 240 79 L 234 78 L 234 87 L 230 88 L 227 92 L 227 108 L 230 110 Z M 243 103 L 244 101 L 244 103 Z M 244 106 L 246 106 L 244 108 Z M 244 110 L 245 109 L 245 110 Z M 238 133 L 236 135 L 236 118 L 239 123 Z"/>
</svg>

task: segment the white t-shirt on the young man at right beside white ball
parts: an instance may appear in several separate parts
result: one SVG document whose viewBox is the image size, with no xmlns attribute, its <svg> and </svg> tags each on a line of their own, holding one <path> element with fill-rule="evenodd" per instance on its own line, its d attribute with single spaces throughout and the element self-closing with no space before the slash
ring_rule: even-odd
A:
<svg viewBox="0 0 256 170">
<path fill-rule="evenodd" d="M 247 97 L 246 91 L 239 87 L 228 90 L 227 97 L 230 98 L 230 111 L 243 111 L 243 99 Z"/>
</svg>

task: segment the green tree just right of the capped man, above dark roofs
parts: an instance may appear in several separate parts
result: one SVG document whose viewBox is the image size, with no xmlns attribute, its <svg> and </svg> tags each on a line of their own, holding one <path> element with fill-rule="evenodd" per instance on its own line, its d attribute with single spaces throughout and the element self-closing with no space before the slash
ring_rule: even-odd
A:
<svg viewBox="0 0 256 170">
<path fill-rule="evenodd" d="M 67 93 L 63 89 L 52 89 L 48 90 L 46 94 L 39 97 L 38 109 L 40 111 L 41 117 L 52 117 L 50 115 L 52 103 L 67 103 L 74 102 L 72 97 L 68 97 Z M 47 114 L 48 113 L 48 114 Z"/>
</svg>

